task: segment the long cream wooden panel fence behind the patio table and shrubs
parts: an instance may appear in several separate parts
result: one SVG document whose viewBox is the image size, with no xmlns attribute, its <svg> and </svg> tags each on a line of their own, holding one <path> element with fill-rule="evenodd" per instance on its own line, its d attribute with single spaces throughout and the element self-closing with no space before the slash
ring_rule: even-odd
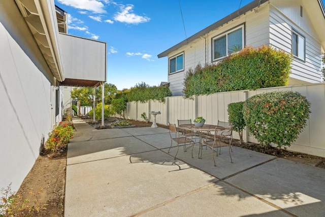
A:
<svg viewBox="0 0 325 217">
<path fill-rule="evenodd" d="M 311 114 L 307 126 L 299 135 L 299 138 L 291 144 L 288 150 L 325 157 L 325 83 L 284 86 L 276 88 L 263 88 L 255 91 L 233 91 L 211 95 L 201 95 L 191 99 L 182 96 L 166 97 L 165 102 L 150 100 L 146 103 L 127 103 L 126 117 L 128 119 L 143 121 L 142 113 L 161 112 L 156 116 L 158 124 L 168 125 L 176 123 L 177 119 L 195 119 L 204 117 L 207 124 L 217 124 L 219 121 L 228 121 L 228 104 L 245 101 L 247 98 L 266 92 L 294 91 L 306 96 L 311 102 Z M 151 120 L 152 121 L 152 120 Z M 234 132 L 234 138 L 239 138 Z M 257 142 L 248 132 L 244 131 L 244 140 Z"/>
</svg>

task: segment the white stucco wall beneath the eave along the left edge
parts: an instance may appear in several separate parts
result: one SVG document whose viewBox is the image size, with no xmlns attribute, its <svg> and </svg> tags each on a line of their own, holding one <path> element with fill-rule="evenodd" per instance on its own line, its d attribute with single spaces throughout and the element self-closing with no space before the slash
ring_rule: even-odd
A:
<svg viewBox="0 0 325 217">
<path fill-rule="evenodd" d="M 17 191 L 51 130 L 53 76 L 14 1 L 0 1 L 0 189 Z"/>
</svg>

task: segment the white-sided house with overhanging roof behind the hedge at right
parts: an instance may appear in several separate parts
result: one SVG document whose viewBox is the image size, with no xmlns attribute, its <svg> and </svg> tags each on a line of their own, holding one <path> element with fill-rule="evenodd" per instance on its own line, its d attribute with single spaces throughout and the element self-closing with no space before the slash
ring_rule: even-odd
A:
<svg viewBox="0 0 325 217">
<path fill-rule="evenodd" d="M 288 85 L 321 81 L 325 10 L 321 0 L 260 0 L 240 8 L 158 54 L 168 57 L 168 82 L 183 95 L 186 71 L 216 63 L 246 46 L 272 46 L 294 55 Z"/>
</svg>

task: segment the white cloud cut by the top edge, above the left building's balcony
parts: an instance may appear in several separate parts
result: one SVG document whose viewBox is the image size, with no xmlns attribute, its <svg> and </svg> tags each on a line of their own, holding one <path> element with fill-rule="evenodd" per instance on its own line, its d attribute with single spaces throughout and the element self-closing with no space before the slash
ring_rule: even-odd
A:
<svg viewBox="0 0 325 217">
<path fill-rule="evenodd" d="M 59 3 L 67 6 L 71 6 L 73 8 L 91 11 L 96 14 L 104 14 L 106 11 L 104 10 L 104 4 L 98 0 L 57 0 Z M 109 2 L 103 0 L 104 3 Z"/>
</svg>

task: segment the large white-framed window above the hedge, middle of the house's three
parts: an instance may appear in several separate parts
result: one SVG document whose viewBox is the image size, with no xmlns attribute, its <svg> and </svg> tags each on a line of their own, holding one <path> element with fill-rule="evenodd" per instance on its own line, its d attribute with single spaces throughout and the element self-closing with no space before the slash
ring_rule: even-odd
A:
<svg viewBox="0 0 325 217">
<path fill-rule="evenodd" d="M 212 61 L 229 56 L 244 48 L 244 25 L 212 39 Z"/>
</svg>

